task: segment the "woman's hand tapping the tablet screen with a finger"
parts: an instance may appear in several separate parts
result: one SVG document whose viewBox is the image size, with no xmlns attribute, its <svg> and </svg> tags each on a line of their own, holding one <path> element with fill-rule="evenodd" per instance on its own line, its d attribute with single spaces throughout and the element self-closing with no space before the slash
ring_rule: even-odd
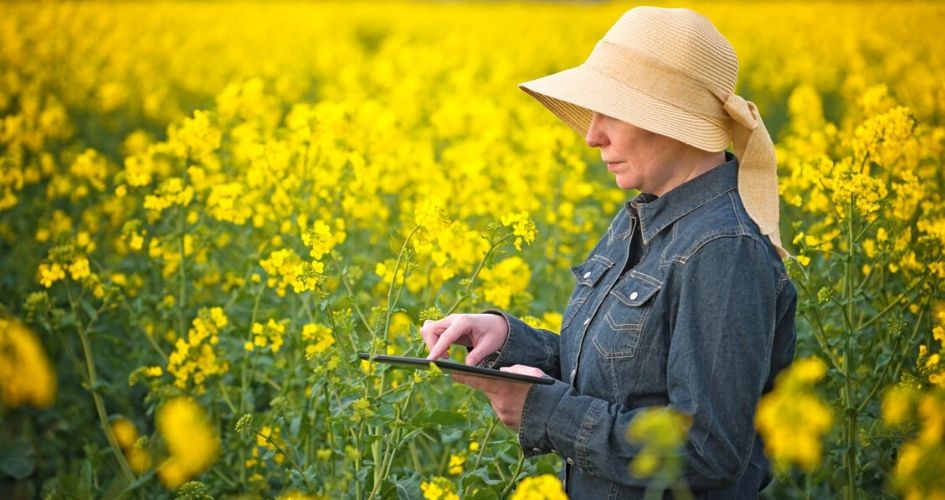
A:
<svg viewBox="0 0 945 500">
<path fill-rule="evenodd" d="M 424 321 L 420 335 L 427 343 L 427 359 L 449 357 L 453 344 L 472 347 L 466 355 L 467 365 L 476 365 L 505 344 L 509 324 L 498 314 L 450 314 L 437 321 Z"/>
</svg>

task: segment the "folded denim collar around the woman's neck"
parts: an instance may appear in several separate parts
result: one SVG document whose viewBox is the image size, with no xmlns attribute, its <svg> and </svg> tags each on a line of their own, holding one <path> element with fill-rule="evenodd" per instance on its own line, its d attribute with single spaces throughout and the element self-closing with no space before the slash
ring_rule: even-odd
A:
<svg viewBox="0 0 945 500">
<path fill-rule="evenodd" d="M 725 163 L 677 186 L 660 197 L 640 193 L 624 204 L 630 215 L 636 211 L 640 217 L 643 243 L 649 244 L 654 236 L 684 215 L 692 212 L 713 198 L 738 186 L 738 158 L 725 152 Z"/>
</svg>

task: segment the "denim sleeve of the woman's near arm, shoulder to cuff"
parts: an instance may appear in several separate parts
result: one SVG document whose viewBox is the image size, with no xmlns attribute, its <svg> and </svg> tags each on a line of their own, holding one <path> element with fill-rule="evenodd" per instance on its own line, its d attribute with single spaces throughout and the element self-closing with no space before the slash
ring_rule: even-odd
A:
<svg viewBox="0 0 945 500">
<path fill-rule="evenodd" d="M 745 470 L 754 444 L 781 277 L 760 242 L 720 238 L 680 264 L 667 285 L 673 294 L 668 406 L 692 416 L 682 451 L 685 479 L 692 489 L 725 487 Z M 579 394 L 563 382 L 536 385 L 525 401 L 519 442 L 528 456 L 554 452 L 589 474 L 645 487 L 628 469 L 640 449 L 625 437 L 642 410 Z"/>
</svg>

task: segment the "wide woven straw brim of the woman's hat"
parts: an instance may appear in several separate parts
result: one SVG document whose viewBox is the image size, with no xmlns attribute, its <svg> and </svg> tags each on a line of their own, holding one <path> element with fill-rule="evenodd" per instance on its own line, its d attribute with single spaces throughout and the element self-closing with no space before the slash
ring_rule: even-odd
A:
<svg viewBox="0 0 945 500">
<path fill-rule="evenodd" d="M 726 124 L 713 123 L 585 66 L 520 83 L 519 88 L 582 137 L 597 112 L 705 151 L 722 151 L 732 142 Z"/>
</svg>

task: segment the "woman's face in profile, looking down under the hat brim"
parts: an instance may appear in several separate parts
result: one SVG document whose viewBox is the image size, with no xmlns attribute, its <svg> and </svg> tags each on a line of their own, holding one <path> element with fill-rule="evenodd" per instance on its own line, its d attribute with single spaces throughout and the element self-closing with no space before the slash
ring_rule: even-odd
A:
<svg viewBox="0 0 945 500">
<path fill-rule="evenodd" d="M 584 140 L 600 148 L 601 159 L 621 189 L 660 196 L 678 185 L 684 145 L 675 139 L 594 113 Z"/>
</svg>

